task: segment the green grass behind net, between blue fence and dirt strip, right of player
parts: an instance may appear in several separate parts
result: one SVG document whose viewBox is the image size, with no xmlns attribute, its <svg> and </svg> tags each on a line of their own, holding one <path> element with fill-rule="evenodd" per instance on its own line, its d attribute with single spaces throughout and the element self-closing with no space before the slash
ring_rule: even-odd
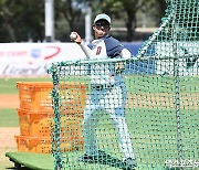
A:
<svg viewBox="0 0 199 170">
<path fill-rule="evenodd" d="M 199 92 L 199 77 L 179 77 L 181 93 Z M 174 76 L 160 75 L 130 75 L 126 76 L 127 92 L 132 93 L 175 93 Z"/>
</svg>

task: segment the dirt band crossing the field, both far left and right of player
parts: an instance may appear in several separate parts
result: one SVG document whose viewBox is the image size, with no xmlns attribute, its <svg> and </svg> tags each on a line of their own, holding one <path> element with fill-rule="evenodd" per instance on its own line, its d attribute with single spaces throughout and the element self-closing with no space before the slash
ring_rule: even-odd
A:
<svg viewBox="0 0 199 170">
<path fill-rule="evenodd" d="M 180 94 L 181 107 L 195 109 L 198 107 L 198 93 Z M 175 96 L 166 93 L 134 94 L 128 96 L 127 107 L 174 108 Z M 0 108 L 19 108 L 19 95 L 0 95 Z"/>
</svg>

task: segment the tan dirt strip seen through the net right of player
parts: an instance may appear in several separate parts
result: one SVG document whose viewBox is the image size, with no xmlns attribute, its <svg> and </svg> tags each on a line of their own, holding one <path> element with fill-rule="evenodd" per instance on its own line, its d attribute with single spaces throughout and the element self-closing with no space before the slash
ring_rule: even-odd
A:
<svg viewBox="0 0 199 170">
<path fill-rule="evenodd" d="M 199 93 L 181 93 L 180 108 L 197 109 Z M 150 93 L 128 95 L 127 108 L 175 109 L 175 94 Z"/>
</svg>

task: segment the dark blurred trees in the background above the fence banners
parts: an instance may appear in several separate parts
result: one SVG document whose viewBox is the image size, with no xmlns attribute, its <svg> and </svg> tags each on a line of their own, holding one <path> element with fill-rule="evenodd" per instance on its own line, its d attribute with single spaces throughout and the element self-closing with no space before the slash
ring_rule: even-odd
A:
<svg viewBox="0 0 199 170">
<path fill-rule="evenodd" d="M 134 40 L 138 26 L 138 14 L 145 13 L 158 26 L 165 14 L 165 0 L 54 0 L 55 39 L 67 41 L 64 36 L 73 30 L 84 32 L 86 7 L 92 8 L 92 17 L 104 12 L 113 20 L 121 21 L 127 29 L 126 41 Z M 147 22 L 147 21 L 146 21 Z M 0 0 L 0 42 L 43 41 L 44 0 Z"/>
</svg>

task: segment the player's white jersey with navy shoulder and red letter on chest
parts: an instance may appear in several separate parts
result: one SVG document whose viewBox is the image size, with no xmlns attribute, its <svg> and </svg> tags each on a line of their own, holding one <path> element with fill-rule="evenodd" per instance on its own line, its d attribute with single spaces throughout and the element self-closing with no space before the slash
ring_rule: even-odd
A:
<svg viewBox="0 0 199 170">
<path fill-rule="evenodd" d="M 91 60 L 130 57 L 132 55 L 119 41 L 109 35 L 94 40 L 92 45 L 92 50 L 86 47 L 83 49 Z M 123 77 L 115 73 L 114 62 L 96 63 L 91 65 L 91 84 L 109 85 L 122 81 Z"/>
</svg>

